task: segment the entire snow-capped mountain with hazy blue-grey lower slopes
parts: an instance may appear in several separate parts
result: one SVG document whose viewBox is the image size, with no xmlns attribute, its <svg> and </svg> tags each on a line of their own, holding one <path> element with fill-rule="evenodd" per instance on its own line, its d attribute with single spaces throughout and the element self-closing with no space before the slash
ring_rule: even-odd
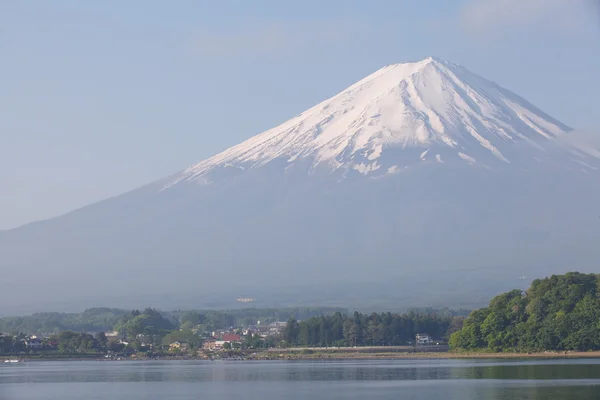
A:
<svg viewBox="0 0 600 400">
<path fill-rule="evenodd" d="M 455 64 L 390 65 L 172 177 L 0 232 L 0 312 L 473 306 L 595 270 L 600 162 L 570 131 Z"/>
</svg>

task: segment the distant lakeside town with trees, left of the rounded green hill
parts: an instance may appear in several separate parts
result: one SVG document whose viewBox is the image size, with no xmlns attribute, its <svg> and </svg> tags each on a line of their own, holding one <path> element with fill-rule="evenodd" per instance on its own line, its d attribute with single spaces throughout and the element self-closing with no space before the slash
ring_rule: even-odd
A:
<svg viewBox="0 0 600 400">
<path fill-rule="evenodd" d="M 325 315 L 327 311 L 330 313 Z M 6 330 L 0 333 L 0 356 L 106 360 L 216 359 L 264 358 L 272 356 L 269 353 L 272 349 L 311 347 L 437 346 L 440 350 L 446 342 L 444 335 L 452 326 L 452 321 L 458 327 L 463 319 L 460 316 L 413 312 L 404 315 L 348 315 L 328 309 L 238 310 L 229 313 L 188 311 L 170 314 L 151 308 L 125 313 L 112 309 L 92 309 L 73 315 L 34 314 L 30 317 L 4 318 L 0 319 L 0 326 Z M 257 314 L 263 314 L 265 320 L 252 316 Z M 277 314 L 288 318 L 285 321 L 274 320 L 273 316 Z M 296 319 L 295 315 L 304 316 L 306 320 Z M 84 317 L 88 321 L 105 318 L 109 323 L 110 320 L 116 322 L 113 329 L 106 331 L 58 328 L 67 326 L 67 320 L 71 320 L 72 327 L 75 327 L 82 323 L 76 320 Z M 52 327 L 53 332 L 40 330 L 49 327 L 47 319 L 57 324 Z M 234 320 L 237 323 L 233 323 Z M 227 323 L 230 324 L 223 326 Z M 29 328 L 27 324 L 30 324 Z M 392 324 L 395 324 L 394 329 Z M 416 327 L 426 326 L 435 335 L 413 331 Z"/>
</svg>

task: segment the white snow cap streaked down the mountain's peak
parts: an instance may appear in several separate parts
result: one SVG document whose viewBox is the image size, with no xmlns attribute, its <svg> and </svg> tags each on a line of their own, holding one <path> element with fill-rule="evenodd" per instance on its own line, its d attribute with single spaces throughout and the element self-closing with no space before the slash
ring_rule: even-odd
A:
<svg viewBox="0 0 600 400">
<path fill-rule="evenodd" d="M 510 164 L 516 143 L 542 151 L 571 129 L 530 103 L 465 68 L 433 57 L 388 65 L 283 124 L 184 171 L 204 178 L 220 167 L 290 164 L 398 170 L 389 149 L 416 149 L 415 161 Z M 419 156 L 420 155 L 420 156 Z M 387 165 L 383 165 L 387 164 Z M 382 168 L 383 167 L 383 168 Z"/>
</svg>

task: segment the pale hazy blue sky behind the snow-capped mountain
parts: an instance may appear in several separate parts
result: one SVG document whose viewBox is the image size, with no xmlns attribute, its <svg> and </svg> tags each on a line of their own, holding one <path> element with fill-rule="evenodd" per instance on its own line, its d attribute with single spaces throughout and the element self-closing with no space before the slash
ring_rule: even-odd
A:
<svg viewBox="0 0 600 400">
<path fill-rule="evenodd" d="M 0 2 L 0 229 L 170 175 L 429 55 L 600 133 L 597 0 Z"/>
</svg>

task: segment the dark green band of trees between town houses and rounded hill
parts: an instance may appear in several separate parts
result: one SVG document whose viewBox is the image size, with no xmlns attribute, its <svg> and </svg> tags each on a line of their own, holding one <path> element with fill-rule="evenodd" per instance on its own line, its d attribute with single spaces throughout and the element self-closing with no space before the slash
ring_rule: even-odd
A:
<svg viewBox="0 0 600 400">
<path fill-rule="evenodd" d="M 335 313 L 298 322 L 290 319 L 283 332 L 288 346 L 401 346 L 417 333 L 444 340 L 460 329 L 463 317 L 437 313 Z"/>
</svg>

